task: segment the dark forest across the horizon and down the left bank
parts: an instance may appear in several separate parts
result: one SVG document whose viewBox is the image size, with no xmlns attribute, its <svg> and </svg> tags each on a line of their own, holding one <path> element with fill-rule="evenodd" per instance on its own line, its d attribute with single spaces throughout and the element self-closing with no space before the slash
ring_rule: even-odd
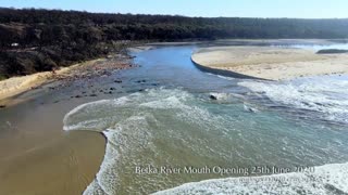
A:
<svg viewBox="0 0 348 195">
<path fill-rule="evenodd" d="M 185 17 L 0 9 L 0 78 L 52 70 L 133 41 L 348 38 L 348 20 Z"/>
</svg>

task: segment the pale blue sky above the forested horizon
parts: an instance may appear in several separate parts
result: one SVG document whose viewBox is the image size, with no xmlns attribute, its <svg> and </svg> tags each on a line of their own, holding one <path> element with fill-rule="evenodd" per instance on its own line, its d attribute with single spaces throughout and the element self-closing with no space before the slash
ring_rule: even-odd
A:
<svg viewBox="0 0 348 195">
<path fill-rule="evenodd" d="M 0 6 L 208 17 L 348 18 L 348 0 L 0 0 Z"/>
</svg>

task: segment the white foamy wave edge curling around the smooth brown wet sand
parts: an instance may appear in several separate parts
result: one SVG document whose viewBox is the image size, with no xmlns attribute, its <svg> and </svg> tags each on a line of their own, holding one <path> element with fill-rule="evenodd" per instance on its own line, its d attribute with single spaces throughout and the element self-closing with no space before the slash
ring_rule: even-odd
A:
<svg viewBox="0 0 348 195">
<path fill-rule="evenodd" d="M 182 90 L 147 90 L 146 93 L 84 104 L 66 114 L 64 130 L 102 131 L 108 140 L 100 170 L 84 194 L 116 194 L 122 184 L 119 174 L 124 171 L 120 167 L 126 159 L 136 160 L 132 155 L 140 151 L 159 151 L 151 142 L 152 129 L 165 126 L 170 131 L 171 127 L 158 121 L 153 114 L 160 110 L 172 112 L 173 118 L 178 121 L 198 121 L 197 126 L 207 127 L 204 125 L 210 120 L 209 114 L 186 105 L 185 102 L 190 100 L 192 95 Z M 175 136 L 175 132 L 172 135 Z"/>
</svg>

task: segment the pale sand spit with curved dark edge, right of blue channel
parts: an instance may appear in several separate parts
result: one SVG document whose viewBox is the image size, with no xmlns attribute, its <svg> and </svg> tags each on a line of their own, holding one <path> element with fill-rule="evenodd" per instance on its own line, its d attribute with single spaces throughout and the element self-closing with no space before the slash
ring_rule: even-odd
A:
<svg viewBox="0 0 348 195">
<path fill-rule="evenodd" d="M 347 54 L 306 49 L 211 47 L 194 53 L 191 60 L 203 67 L 269 80 L 348 73 Z"/>
</svg>

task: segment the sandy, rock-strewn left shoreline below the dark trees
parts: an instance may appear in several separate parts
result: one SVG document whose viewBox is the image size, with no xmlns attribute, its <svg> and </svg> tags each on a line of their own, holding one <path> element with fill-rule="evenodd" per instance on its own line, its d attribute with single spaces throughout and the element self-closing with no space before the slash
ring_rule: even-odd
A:
<svg viewBox="0 0 348 195">
<path fill-rule="evenodd" d="M 86 61 L 63 67 L 59 70 L 42 72 L 33 75 L 12 77 L 0 81 L 0 108 L 25 102 L 26 93 L 39 90 L 57 90 L 72 84 L 75 80 L 90 80 L 112 75 L 113 72 L 133 68 L 132 56 L 122 53 L 111 53 L 105 57 Z"/>
</svg>

